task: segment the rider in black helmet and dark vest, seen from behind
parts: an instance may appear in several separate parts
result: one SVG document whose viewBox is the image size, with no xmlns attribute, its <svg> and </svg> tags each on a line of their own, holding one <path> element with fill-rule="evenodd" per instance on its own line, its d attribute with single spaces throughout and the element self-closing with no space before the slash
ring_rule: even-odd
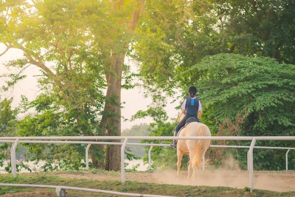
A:
<svg viewBox="0 0 295 197">
<path fill-rule="evenodd" d="M 189 97 L 187 97 L 182 105 L 182 113 L 185 115 L 184 118 L 178 123 L 178 125 L 175 128 L 174 136 L 177 136 L 178 131 L 184 127 L 185 122 L 188 118 L 194 117 L 197 119 L 198 122 L 200 122 L 200 118 L 202 116 L 202 105 L 198 98 L 196 98 L 197 94 L 197 88 L 195 86 L 191 86 L 188 89 Z M 199 115 L 198 115 L 199 111 Z M 197 116 L 198 115 L 198 116 Z M 169 147 L 176 148 L 177 146 L 177 140 L 173 140 Z"/>
</svg>

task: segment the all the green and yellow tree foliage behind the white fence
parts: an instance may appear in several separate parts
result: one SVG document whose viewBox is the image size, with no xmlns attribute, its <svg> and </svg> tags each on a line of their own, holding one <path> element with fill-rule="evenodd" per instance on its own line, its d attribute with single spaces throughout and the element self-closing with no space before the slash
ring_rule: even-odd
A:
<svg viewBox="0 0 295 197">
<path fill-rule="evenodd" d="M 168 117 L 163 110 L 167 96 L 174 96 L 179 88 L 186 92 L 192 84 L 197 84 L 204 105 L 202 122 L 213 134 L 218 132 L 216 121 L 234 121 L 246 106 L 241 135 L 294 135 L 294 66 L 288 65 L 295 64 L 292 0 L 145 0 L 142 8 L 136 0 L 124 1 L 120 6 L 108 0 L 19 0 L 0 4 L 0 43 L 7 50 L 22 50 L 25 56 L 6 64 L 19 72 L 2 76 L 10 78 L 2 90 L 8 91 L 25 78 L 23 71 L 29 66 L 38 66 L 42 73 L 38 77 L 42 91 L 37 98 L 29 101 L 22 97 L 20 110 L 32 108 L 36 115 L 20 122 L 19 135 L 104 134 L 101 117 L 120 117 L 105 107 L 106 102 L 117 108 L 121 104 L 118 95 L 105 96 L 111 76 L 119 79 L 115 84 L 119 89 L 140 85 L 146 97 L 152 96 L 149 109 L 133 117 L 154 119 L 150 135 L 172 135 L 175 125 L 166 123 Z M 133 32 L 127 27 L 136 9 L 142 13 Z M 214 56 L 227 52 L 252 58 Z M 124 58 L 125 54 L 137 61 L 139 74 L 132 73 L 128 65 L 113 65 L 117 62 L 113 57 Z M 116 73 L 120 69 L 122 72 Z M 141 82 L 133 84 L 134 77 Z M 0 122 L 0 129 L 4 128 L 0 133 L 14 131 L 14 112 L 7 112 L 4 116 L 8 119 Z M 109 125 L 107 129 L 112 128 Z M 284 141 L 257 142 L 274 144 L 292 145 Z M 53 169 L 52 164 L 61 158 L 64 163 L 59 167 L 78 169 L 81 163 L 84 165 L 82 145 L 27 147 L 37 161 L 46 158 L 46 170 Z M 173 155 L 173 150 L 158 151 L 159 155 Z M 96 150 L 95 155 L 102 159 L 104 153 Z M 274 158 L 258 166 L 262 169 L 274 168 L 282 153 L 259 150 L 258 155 L 256 160 Z M 279 168 L 282 166 L 280 163 Z"/>
</svg>

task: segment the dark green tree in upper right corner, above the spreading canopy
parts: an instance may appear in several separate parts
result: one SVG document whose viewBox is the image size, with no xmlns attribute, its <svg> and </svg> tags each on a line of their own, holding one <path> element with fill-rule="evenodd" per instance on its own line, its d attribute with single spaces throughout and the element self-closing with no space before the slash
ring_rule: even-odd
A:
<svg viewBox="0 0 295 197">
<path fill-rule="evenodd" d="M 218 0 L 214 10 L 230 51 L 295 64 L 293 0 Z"/>
</svg>

